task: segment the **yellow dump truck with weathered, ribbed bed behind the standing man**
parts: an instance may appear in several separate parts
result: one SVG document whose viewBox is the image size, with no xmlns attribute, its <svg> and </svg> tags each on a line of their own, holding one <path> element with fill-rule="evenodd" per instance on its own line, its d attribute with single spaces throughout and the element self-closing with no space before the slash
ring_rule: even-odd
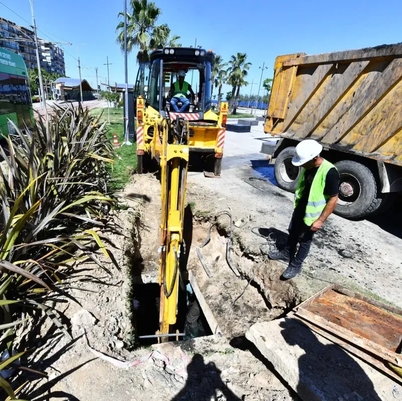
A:
<svg viewBox="0 0 402 401">
<path fill-rule="evenodd" d="M 294 192 L 294 147 L 315 139 L 340 173 L 335 212 L 367 216 L 402 191 L 402 44 L 278 56 L 264 131 L 278 185 Z"/>
</svg>

